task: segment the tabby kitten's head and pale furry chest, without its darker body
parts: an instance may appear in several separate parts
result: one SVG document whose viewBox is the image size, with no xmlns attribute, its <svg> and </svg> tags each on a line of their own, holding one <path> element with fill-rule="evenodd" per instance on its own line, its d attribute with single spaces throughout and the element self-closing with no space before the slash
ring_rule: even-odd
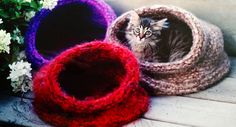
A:
<svg viewBox="0 0 236 127">
<path fill-rule="evenodd" d="M 134 11 L 129 17 L 126 29 L 119 31 L 125 33 L 126 39 L 122 42 L 127 41 L 139 60 L 159 61 L 157 43 L 160 41 L 161 30 L 168 26 L 166 21 L 167 18 L 158 21 L 142 18 Z"/>
</svg>

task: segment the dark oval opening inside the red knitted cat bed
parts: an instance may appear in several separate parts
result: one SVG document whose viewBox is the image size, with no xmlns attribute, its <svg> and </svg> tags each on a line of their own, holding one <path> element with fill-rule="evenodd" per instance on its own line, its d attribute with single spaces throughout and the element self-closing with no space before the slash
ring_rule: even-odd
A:
<svg viewBox="0 0 236 127">
<path fill-rule="evenodd" d="M 118 58 L 95 51 L 83 53 L 66 63 L 58 82 L 68 95 L 91 100 L 112 93 L 120 86 L 125 74 Z"/>
</svg>

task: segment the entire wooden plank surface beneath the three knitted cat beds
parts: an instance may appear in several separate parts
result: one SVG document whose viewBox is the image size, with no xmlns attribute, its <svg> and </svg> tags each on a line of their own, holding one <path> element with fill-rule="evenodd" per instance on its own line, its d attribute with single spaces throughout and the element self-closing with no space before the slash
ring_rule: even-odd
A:
<svg viewBox="0 0 236 127">
<path fill-rule="evenodd" d="M 152 97 L 149 111 L 126 127 L 235 127 L 236 57 L 232 69 L 215 86 L 186 96 Z M 0 121 L 30 127 L 48 127 L 33 112 L 32 93 L 0 96 Z"/>
</svg>

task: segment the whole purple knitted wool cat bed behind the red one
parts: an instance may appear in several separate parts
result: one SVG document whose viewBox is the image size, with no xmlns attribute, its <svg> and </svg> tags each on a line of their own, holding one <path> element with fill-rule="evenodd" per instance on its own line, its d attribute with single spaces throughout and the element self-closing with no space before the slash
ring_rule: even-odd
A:
<svg viewBox="0 0 236 127">
<path fill-rule="evenodd" d="M 76 44 L 103 40 L 115 18 L 103 0 L 59 0 L 32 18 L 25 35 L 27 57 L 38 68 Z"/>
</svg>

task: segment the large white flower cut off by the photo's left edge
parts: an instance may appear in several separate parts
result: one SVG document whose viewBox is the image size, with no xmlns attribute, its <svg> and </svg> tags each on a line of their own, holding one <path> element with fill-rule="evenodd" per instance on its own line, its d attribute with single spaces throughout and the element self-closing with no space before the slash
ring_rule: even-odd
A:
<svg viewBox="0 0 236 127">
<path fill-rule="evenodd" d="M 0 53 L 10 53 L 11 35 L 5 30 L 0 30 Z"/>
</svg>

